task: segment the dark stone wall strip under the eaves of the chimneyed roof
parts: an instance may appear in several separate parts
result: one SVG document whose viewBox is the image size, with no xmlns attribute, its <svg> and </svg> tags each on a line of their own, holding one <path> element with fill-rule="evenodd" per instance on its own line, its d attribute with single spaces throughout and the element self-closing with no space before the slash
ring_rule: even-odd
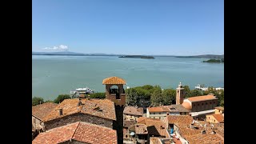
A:
<svg viewBox="0 0 256 144">
<path fill-rule="evenodd" d="M 65 126 L 74 122 L 90 122 L 99 126 L 106 126 L 113 129 L 113 120 L 82 113 L 71 114 L 62 118 L 56 118 L 54 120 L 44 122 L 44 126 L 46 130 L 50 130 L 55 127 Z"/>
</svg>

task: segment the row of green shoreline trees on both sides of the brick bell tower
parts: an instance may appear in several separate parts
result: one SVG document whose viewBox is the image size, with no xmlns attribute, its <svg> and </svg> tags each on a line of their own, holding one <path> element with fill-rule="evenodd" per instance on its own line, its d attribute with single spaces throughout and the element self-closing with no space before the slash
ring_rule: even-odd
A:
<svg viewBox="0 0 256 144">
<path fill-rule="evenodd" d="M 190 90 L 183 86 L 185 98 L 214 94 L 218 98 L 218 106 L 224 106 L 224 90 Z M 176 103 L 176 89 L 161 89 L 160 86 L 137 86 L 126 90 L 126 105 L 128 106 L 167 106 Z"/>
</svg>

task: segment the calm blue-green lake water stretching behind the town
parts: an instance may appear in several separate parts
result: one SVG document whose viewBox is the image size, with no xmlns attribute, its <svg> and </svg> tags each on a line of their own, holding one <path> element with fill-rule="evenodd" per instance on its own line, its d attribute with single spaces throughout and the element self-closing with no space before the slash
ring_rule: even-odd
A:
<svg viewBox="0 0 256 144">
<path fill-rule="evenodd" d="M 159 85 L 176 88 L 179 82 L 194 89 L 197 84 L 224 87 L 224 64 L 205 63 L 208 58 L 32 55 L 32 97 L 54 100 L 78 87 L 105 91 L 102 80 L 124 78 L 127 86 Z"/>
</svg>

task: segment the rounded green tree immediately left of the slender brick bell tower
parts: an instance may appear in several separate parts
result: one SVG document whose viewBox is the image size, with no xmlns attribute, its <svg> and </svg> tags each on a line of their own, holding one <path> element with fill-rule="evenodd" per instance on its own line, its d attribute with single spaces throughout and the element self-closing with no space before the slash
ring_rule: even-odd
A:
<svg viewBox="0 0 256 144">
<path fill-rule="evenodd" d="M 171 105 L 176 101 L 176 90 L 165 89 L 162 91 L 163 105 Z"/>
</svg>

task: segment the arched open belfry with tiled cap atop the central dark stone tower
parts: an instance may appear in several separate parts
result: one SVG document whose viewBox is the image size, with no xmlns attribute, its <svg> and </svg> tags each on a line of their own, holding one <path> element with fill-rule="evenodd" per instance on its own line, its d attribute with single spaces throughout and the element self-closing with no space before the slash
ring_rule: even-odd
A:
<svg viewBox="0 0 256 144">
<path fill-rule="evenodd" d="M 106 85 L 106 99 L 114 102 L 115 105 L 126 105 L 126 94 L 123 89 L 123 85 L 126 85 L 126 81 L 118 77 L 110 77 L 103 79 L 103 85 Z"/>
</svg>

